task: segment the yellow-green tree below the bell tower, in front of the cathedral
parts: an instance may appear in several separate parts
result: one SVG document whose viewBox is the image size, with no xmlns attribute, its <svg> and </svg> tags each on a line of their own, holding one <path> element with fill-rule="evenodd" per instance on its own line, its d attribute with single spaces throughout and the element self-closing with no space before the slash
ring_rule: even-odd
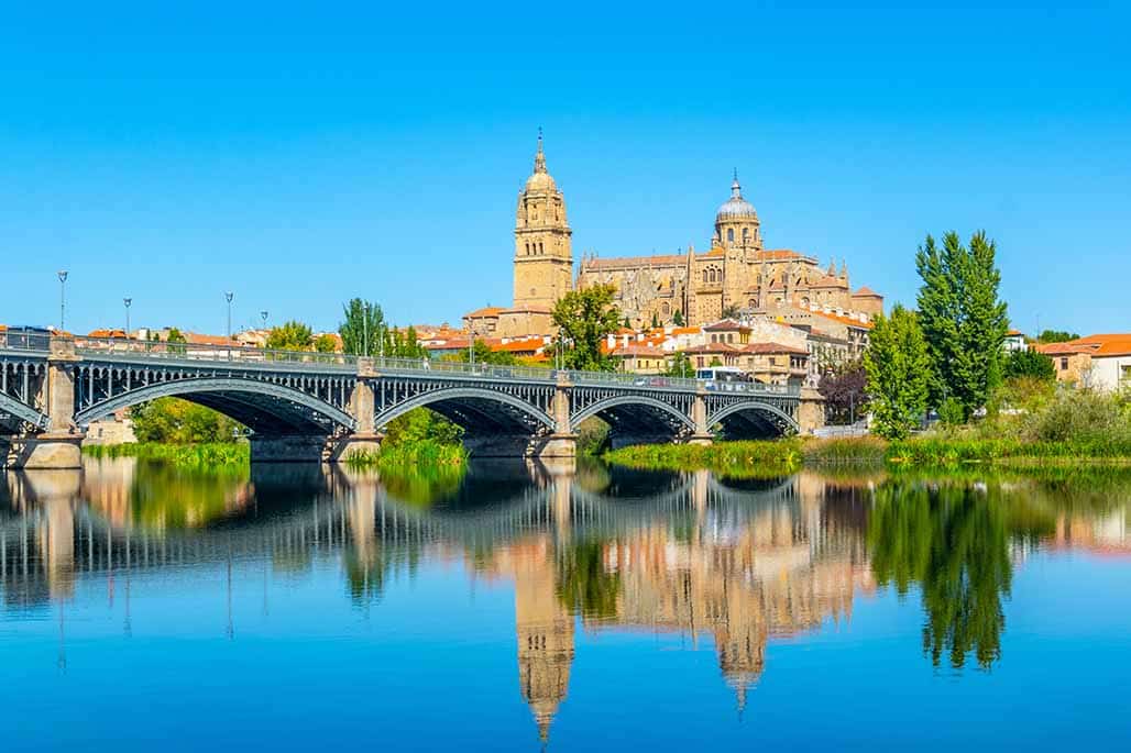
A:
<svg viewBox="0 0 1131 753">
<path fill-rule="evenodd" d="M 594 285 L 570 291 L 554 304 L 553 322 L 560 330 L 559 343 L 567 346 L 562 354 L 567 369 L 615 370 L 612 358 L 601 349 L 621 320 L 613 303 L 615 295 L 612 285 Z"/>
</svg>

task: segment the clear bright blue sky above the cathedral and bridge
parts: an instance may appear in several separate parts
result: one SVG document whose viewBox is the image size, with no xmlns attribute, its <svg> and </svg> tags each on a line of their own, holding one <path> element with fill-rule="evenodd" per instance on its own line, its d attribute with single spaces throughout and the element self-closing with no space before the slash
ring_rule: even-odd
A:
<svg viewBox="0 0 1131 753">
<path fill-rule="evenodd" d="M 507 304 L 542 126 L 576 256 L 705 246 L 737 167 L 889 302 L 985 228 L 1015 324 L 1131 330 L 1126 7 L 166 5 L 3 9 L 0 322 Z"/>
</svg>

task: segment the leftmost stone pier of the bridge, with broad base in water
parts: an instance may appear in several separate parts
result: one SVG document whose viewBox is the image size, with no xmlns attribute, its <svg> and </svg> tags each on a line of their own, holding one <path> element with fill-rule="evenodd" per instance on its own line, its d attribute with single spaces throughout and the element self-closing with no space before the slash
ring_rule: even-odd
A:
<svg viewBox="0 0 1131 753">
<path fill-rule="evenodd" d="M 75 353 L 75 338 L 70 335 L 52 336 L 51 352 L 48 355 L 48 379 L 43 384 L 48 430 L 12 442 L 12 467 L 83 467 L 83 432 L 75 424 L 75 364 L 79 361 L 81 358 Z"/>
</svg>

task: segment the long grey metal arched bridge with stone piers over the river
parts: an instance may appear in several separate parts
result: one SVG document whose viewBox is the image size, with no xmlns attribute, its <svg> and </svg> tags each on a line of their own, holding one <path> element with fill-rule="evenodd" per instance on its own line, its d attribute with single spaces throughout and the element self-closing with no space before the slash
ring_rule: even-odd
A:
<svg viewBox="0 0 1131 753">
<path fill-rule="evenodd" d="M 338 460 L 379 449 L 389 422 L 428 407 L 478 457 L 572 457 L 599 416 L 614 447 L 812 431 L 819 395 L 757 383 L 359 357 L 133 339 L 0 339 L 0 452 L 8 465 L 72 468 L 87 427 L 159 397 L 251 430 L 253 461 Z"/>
</svg>

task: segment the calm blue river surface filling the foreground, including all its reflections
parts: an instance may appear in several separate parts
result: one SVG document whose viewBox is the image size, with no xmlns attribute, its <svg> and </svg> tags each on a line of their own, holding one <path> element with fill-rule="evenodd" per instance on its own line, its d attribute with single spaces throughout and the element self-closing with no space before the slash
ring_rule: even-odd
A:
<svg viewBox="0 0 1131 753">
<path fill-rule="evenodd" d="M 0 476 L 0 748 L 1131 745 L 1131 475 Z"/>
</svg>

